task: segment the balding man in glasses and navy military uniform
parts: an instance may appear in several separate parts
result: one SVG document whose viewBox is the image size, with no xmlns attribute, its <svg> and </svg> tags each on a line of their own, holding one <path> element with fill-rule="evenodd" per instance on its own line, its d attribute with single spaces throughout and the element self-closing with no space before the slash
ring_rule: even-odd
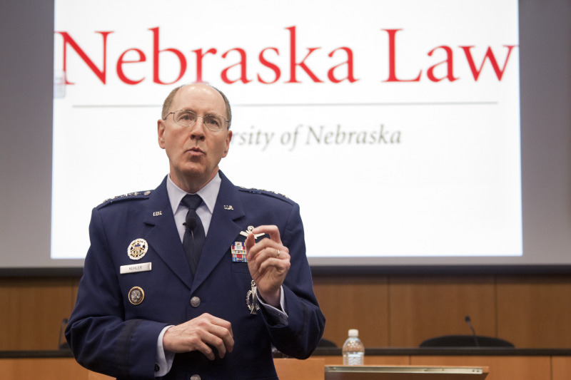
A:
<svg viewBox="0 0 571 380">
<path fill-rule="evenodd" d="M 221 91 L 176 88 L 158 120 L 163 183 L 93 210 L 66 328 L 80 364 L 118 379 L 277 379 L 272 345 L 299 359 L 317 346 L 299 206 L 218 170 L 230 123 Z"/>
</svg>

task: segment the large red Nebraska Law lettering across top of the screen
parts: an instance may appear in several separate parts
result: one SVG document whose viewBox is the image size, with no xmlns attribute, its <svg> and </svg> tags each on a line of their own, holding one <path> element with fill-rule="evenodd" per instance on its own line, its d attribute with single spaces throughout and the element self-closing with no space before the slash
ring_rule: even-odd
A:
<svg viewBox="0 0 571 380">
<path fill-rule="evenodd" d="M 236 47 L 224 51 L 223 53 L 218 53 L 218 49 L 214 47 L 196 48 L 191 50 L 191 54 L 187 58 L 183 51 L 186 51 L 188 47 L 161 49 L 159 46 L 159 27 L 151 28 L 147 29 L 147 31 L 151 32 L 148 36 L 153 39 L 153 48 L 150 52 L 152 56 L 151 61 L 147 58 L 148 52 L 145 53 L 145 51 L 137 47 L 126 47 L 118 57 L 108 57 L 108 45 L 113 43 L 114 31 L 94 31 L 95 34 L 101 35 L 101 45 L 98 47 L 101 53 L 97 56 L 94 53 L 91 53 L 91 56 L 89 56 L 84 48 L 82 48 L 81 41 L 76 41 L 76 38 L 69 32 L 55 31 L 57 35 L 61 36 L 61 38 L 56 38 L 56 46 L 61 46 L 61 62 L 63 65 L 62 68 L 56 67 L 56 70 L 62 69 L 64 71 L 66 74 L 66 85 L 76 83 L 77 79 L 69 74 L 68 47 L 70 47 L 103 84 L 106 84 L 108 79 L 108 60 L 112 60 L 116 63 L 114 66 L 115 70 L 111 70 L 111 72 L 116 74 L 122 83 L 137 85 L 143 81 L 148 81 L 146 76 L 134 77 L 135 75 L 129 72 L 129 68 L 133 67 L 133 65 L 146 64 L 145 67 L 149 68 L 149 74 L 151 74 L 152 71 L 153 83 L 170 85 L 180 81 L 183 76 L 185 76 L 188 66 L 187 59 L 192 58 L 196 60 L 196 73 L 194 78 L 188 78 L 190 81 L 200 82 L 207 80 L 208 78 L 203 78 L 203 67 L 215 61 L 218 61 L 217 63 L 221 66 L 225 66 L 225 64 L 228 63 L 228 66 L 220 71 L 221 80 L 228 84 L 238 81 L 241 83 L 257 81 L 258 83 L 273 84 L 280 81 L 283 73 L 289 74 L 288 80 L 283 81 L 283 83 L 302 83 L 302 76 L 298 75 L 300 72 L 305 73 L 303 78 L 309 83 L 323 83 L 324 81 L 330 83 L 341 83 L 343 81 L 354 83 L 362 79 L 355 76 L 354 63 L 359 57 L 355 56 L 352 48 L 340 46 L 328 53 L 321 47 L 308 47 L 303 50 L 303 48 L 298 46 L 296 26 L 290 26 L 285 28 L 285 30 L 288 36 L 284 34 L 285 38 L 281 41 L 284 46 L 286 46 L 285 48 L 280 49 L 276 46 L 268 46 L 261 48 L 260 51 L 247 51 L 245 48 Z M 397 43 L 397 34 L 406 33 L 406 31 L 404 29 L 379 29 L 379 33 L 379 38 L 388 38 L 388 49 L 386 51 L 388 73 L 382 74 L 385 76 L 385 78 L 380 78 L 382 82 L 428 81 L 438 83 L 440 81 L 458 81 L 464 79 L 460 78 L 460 76 L 455 76 L 454 64 L 458 65 L 460 59 L 465 60 L 465 63 L 468 64 L 470 69 L 471 75 L 468 80 L 478 81 L 482 73 L 486 72 L 497 78 L 497 81 L 502 81 L 502 76 L 508 69 L 507 63 L 510 60 L 511 53 L 514 48 L 517 47 L 517 44 L 505 43 L 502 45 L 502 48 L 496 48 L 494 52 L 492 46 L 458 46 L 452 48 L 444 44 L 435 43 L 435 48 L 432 48 L 426 53 L 419 52 L 419 54 L 427 54 L 430 58 L 434 58 L 435 60 L 440 60 L 440 57 L 445 57 L 445 59 L 433 63 L 427 68 L 419 67 L 418 72 L 412 76 L 400 78 L 397 75 L 398 66 L 396 56 L 397 49 L 400 48 Z M 147 37 L 144 36 L 144 38 Z M 164 42 L 163 45 L 165 45 Z M 485 51 L 483 57 L 479 54 L 480 58 L 475 58 L 473 56 L 473 48 Z M 123 47 L 119 50 L 122 49 Z M 502 51 L 498 51 L 498 49 Z M 56 51 L 58 50 L 56 49 Z M 303 53 L 300 53 L 298 56 L 298 51 L 303 51 L 305 56 L 303 56 Z M 178 61 L 178 76 L 174 81 L 164 81 L 159 76 L 161 58 L 165 56 L 165 54 L 170 55 L 169 58 L 176 57 L 176 61 Z M 283 57 L 285 56 L 288 58 L 284 59 Z M 303 58 L 299 58 L 300 56 L 303 56 Z M 497 58 L 497 56 L 502 56 L 502 58 Z M 256 57 L 257 59 L 251 57 Z M 317 61 L 318 63 L 309 63 L 309 58 L 312 58 L 312 62 Z M 456 58 L 456 60 L 454 58 Z M 95 62 L 98 62 L 98 64 Z M 486 64 L 487 62 L 489 63 Z M 503 63 L 501 67 L 498 62 Z M 252 66 L 254 67 L 253 69 Z M 491 70 L 487 68 L 489 66 L 491 66 Z M 248 68 L 249 71 L 257 71 L 256 79 L 253 79 L 253 76 L 248 74 Z M 515 69 L 517 69 L 517 67 Z"/>
</svg>

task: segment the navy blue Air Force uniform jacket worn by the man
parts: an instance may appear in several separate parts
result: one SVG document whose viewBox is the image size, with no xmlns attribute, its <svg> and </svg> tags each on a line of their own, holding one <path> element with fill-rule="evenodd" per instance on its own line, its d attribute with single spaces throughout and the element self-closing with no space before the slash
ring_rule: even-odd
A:
<svg viewBox="0 0 571 380">
<path fill-rule="evenodd" d="M 193 278 L 168 201 L 166 178 L 151 192 L 108 200 L 91 215 L 91 247 L 79 284 L 66 339 L 86 368 L 118 379 L 153 379 L 156 343 L 163 327 L 203 313 L 231 322 L 234 347 L 210 361 L 198 351 L 176 354 L 163 379 L 198 374 L 207 379 L 277 379 L 271 344 L 305 359 L 323 335 L 325 318 L 313 294 L 299 206 L 261 190 L 222 183 L 208 236 Z M 291 267 L 283 284 L 288 322 L 276 322 L 261 307 L 251 314 L 248 264 L 231 260 L 231 246 L 244 242 L 248 226 L 277 225 Z M 139 260 L 127 255 L 136 239 L 148 245 Z M 124 265 L 151 263 L 151 270 L 120 274 Z M 139 304 L 129 300 L 142 289 Z M 193 299 L 193 302 L 191 302 Z M 198 302 L 197 302 L 198 301 Z"/>
</svg>

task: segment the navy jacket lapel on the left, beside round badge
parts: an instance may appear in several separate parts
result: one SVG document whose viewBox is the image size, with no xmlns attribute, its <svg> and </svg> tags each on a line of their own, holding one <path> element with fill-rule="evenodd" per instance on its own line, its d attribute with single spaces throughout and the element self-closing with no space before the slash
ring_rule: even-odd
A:
<svg viewBox="0 0 571 380">
<path fill-rule="evenodd" d="M 174 224 L 173 210 L 166 192 L 166 178 L 151 193 L 143 222 L 151 226 L 146 240 L 166 265 L 191 289 L 192 274 L 184 254 L 181 237 Z"/>
</svg>

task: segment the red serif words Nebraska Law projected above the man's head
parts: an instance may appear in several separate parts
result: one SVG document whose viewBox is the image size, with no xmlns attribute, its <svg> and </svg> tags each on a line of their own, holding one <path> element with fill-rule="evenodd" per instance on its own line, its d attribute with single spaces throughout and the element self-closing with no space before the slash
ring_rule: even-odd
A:
<svg viewBox="0 0 571 380">
<path fill-rule="evenodd" d="M 355 78 L 355 73 L 354 73 L 355 58 L 353 50 L 351 48 L 349 48 L 348 46 L 341 46 L 333 49 L 333 51 L 330 51 L 330 53 L 328 53 L 328 58 L 330 58 L 330 61 L 332 61 L 334 64 L 330 65 L 327 72 L 325 73 L 323 62 L 327 61 L 327 58 L 325 58 L 324 56 L 320 56 L 320 53 L 314 54 L 315 51 L 318 51 L 321 48 L 320 47 L 305 48 L 307 49 L 305 56 L 303 57 L 303 59 L 298 61 L 296 26 L 290 26 L 288 28 L 285 28 L 285 30 L 289 32 L 289 49 L 290 49 L 290 57 L 289 57 L 290 78 L 285 83 L 303 82 L 302 78 L 298 78 L 297 76 L 298 68 L 300 68 L 303 71 L 303 73 L 305 73 L 305 75 L 307 75 L 310 78 L 310 81 L 313 81 L 313 83 L 323 83 L 323 81 L 321 81 L 320 78 L 318 78 L 317 74 L 319 74 L 319 76 L 327 75 L 327 78 L 325 80 L 329 81 L 330 83 L 342 83 L 343 81 L 354 83 L 360 80 L 360 78 Z M 399 31 L 402 30 L 403 29 L 381 29 L 381 31 L 386 31 L 388 36 L 388 77 L 383 82 L 418 82 L 423 76 L 423 70 L 425 69 L 424 67 L 419 68 L 418 75 L 415 78 L 403 79 L 397 76 L 396 35 Z M 152 61 L 153 67 L 149 68 L 149 71 L 152 70 L 153 73 L 153 82 L 161 85 L 169 85 L 180 81 L 181 78 L 183 78 L 183 76 L 185 75 L 187 69 L 186 56 L 180 50 L 178 50 L 178 48 L 165 48 L 165 49 L 160 48 L 159 27 L 148 29 L 148 31 L 151 31 L 153 34 L 153 61 Z M 69 78 L 69 73 L 68 73 L 68 68 L 69 68 L 69 62 L 67 60 L 67 58 L 69 57 L 68 47 L 74 50 L 74 52 L 79 56 L 79 58 L 81 58 L 81 60 L 86 64 L 89 70 L 91 70 L 95 74 L 96 78 L 98 78 L 99 81 L 101 81 L 101 83 L 106 84 L 107 41 L 108 41 L 108 35 L 114 32 L 113 31 L 95 32 L 102 36 L 103 55 L 100 58 L 101 63 L 98 64 L 94 63 L 94 60 L 92 60 L 91 57 L 88 56 L 88 54 L 84 51 L 83 48 L 81 48 L 81 46 L 79 46 L 79 44 L 74 40 L 74 38 L 71 38 L 69 33 L 65 31 L 56 31 L 55 33 L 59 34 L 63 38 L 63 66 L 64 66 L 63 71 L 65 73 L 65 84 L 67 85 L 75 84 L 74 81 L 71 80 L 72 78 Z M 473 52 L 471 50 L 472 48 L 474 48 L 474 46 L 459 46 L 459 47 L 463 49 L 466 60 L 468 61 L 470 72 L 472 73 L 472 76 L 475 81 L 479 80 L 480 76 L 482 75 L 484 66 L 487 65 L 486 63 L 487 61 L 490 62 L 489 65 L 492 66 L 492 70 L 494 71 L 497 79 L 501 81 L 503 75 L 505 74 L 505 71 L 507 70 L 507 62 L 509 61 L 511 53 L 516 46 L 517 45 L 504 45 L 504 47 L 507 48 L 507 52 L 503 64 L 501 63 L 500 59 L 497 59 L 495 57 L 495 54 L 493 53 L 492 48 L 490 46 L 488 46 L 487 48 L 484 47 L 486 50 L 481 63 L 480 62 L 475 63 Z M 300 51 L 302 49 L 303 48 L 300 47 Z M 113 51 L 121 51 L 121 50 L 118 50 L 117 46 L 113 46 Z M 168 70 L 169 73 L 173 72 L 172 74 L 173 78 L 169 78 L 169 80 L 173 79 L 173 81 L 165 81 L 160 78 L 161 71 L 159 68 L 161 66 L 160 65 L 161 53 L 166 53 L 166 52 L 174 54 L 174 58 L 176 58 L 174 61 L 175 69 Z M 203 48 L 198 48 L 196 50 L 193 50 L 192 52 L 196 54 L 196 81 L 200 82 L 203 81 L 203 76 L 204 76 L 203 68 L 205 67 L 204 65 L 206 64 L 205 57 L 208 56 L 208 54 L 211 54 L 214 56 L 213 59 L 216 60 L 218 58 L 216 56 L 218 52 L 216 48 L 208 48 L 208 50 L 204 50 Z M 258 54 L 258 61 L 260 63 L 259 67 L 261 69 L 256 73 L 256 78 L 252 79 L 248 78 L 248 65 L 247 65 L 248 53 L 249 51 L 246 51 L 244 48 L 231 48 L 221 55 L 221 58 L 228 59 L 228 61 L 231 60 L 232 54 L 235 54 L 235 56 L 237 57 L 235 63 L 230 64 L 226 68 L 223 68 L 223 70 L 221 71 L 220 76 L 224 83 L 233 84 L 240 81 L 241 83 L 246 84 L 257 79 L 259 83 L 273 84 L 277 83 L 280 80 L 281 69 L 284 67 L 283 66 L 281 67 L 278 62 L 281 62 L 283 60 L 279 60 L 278 58 L 275 57 L 273 58 L 275 62 L 268 60 L 268 55 L 273 56 L 273 54 L 275 54 L 276 57 L 280 56 L 280 51 L 278 50 L 278 48 L 276 47 L 262 48 L 262 50 Z M 429 81 L 432 81 L 434 83 L 438 83 L 445 80 L 454 82 L 460 79 L 459 77 L 454 76 L 453 53 L 454 53 L 453 48 L 450 48 L 450 46 L 445 46 L 445 45 L 437 46 L 428 52 L 429 57 L 435 58 L 440 55 L 444 56 L 445 58 L 443 61 L 434 63 L 432 64 L 432 66 L 429 66 L 426 69 L 426 77 L 428 78 Z M 173 60 L 173 56 L 169 54 L 163 54 L 163 57 L 165 55 L 167 57 L 163 58 L 163 60 L 165 59 Z M 310 64 L 308 63 L 308 61 L 310 61 L 310 56 L 312 55 L 318 56 L 314 59 L 319 63 L 312 63 L 314 66 L 310 68 Z M 178 60 L 179 64 L 178 73 L 176 73 L 177 69 L 176 60 Z M 76 61 L 76 59 L 71 60 L 72 63 L 74 61 Z M 127 68 L 133 67 L 133 66 L 128 66 L 128 64 L 132 65 L 133 63 L 142 63 L 146 61 L 147 61 L 146 53 L 140 48 L 133 47 L 124 50 L 123 53 L 121 53 L 118 56 L 116 61 L 116 73 L 118 76 L 118 80 L 131 86 L 143 82 L 148 76 L 148 74 L 143 73 L 137 76 L 136 74 L 134 74 L 133 71 L 133 73 L 131 73 L 131 76 L 129 76 Z M 288 64 L 287 61 L 282 63 L 284 63 L 284 65 Z M 139 65 L 138 67 L 140 66 L 141 65 Z M 163 66 L 165 66 L 165 63 L 163 63 Z M 217 65 L 213 65 L 213 67 L 217 67 Z M 323 70 L 319 71 L 317 68 L 323 68 Z M 284 69 L 287 70 L 287 68 Z M 416 69 L 413 68 L 413 72 L 415 70 Z M 163 69 L 163 72 L 166 71 Z M 163 73 L 163 76 L 165 75 L 168 74 Z M 209 77 L 213 75 L 214 75 L 213 73 L 207 74 L 207 76 Z M 252 73 L 251 75 L 254 74 Z M 300 75 L 303 76 L 303 74 Z M 306 78 L 303 79 L 305 79 L 305 81 L 307 82 Z"/>
</svg>

